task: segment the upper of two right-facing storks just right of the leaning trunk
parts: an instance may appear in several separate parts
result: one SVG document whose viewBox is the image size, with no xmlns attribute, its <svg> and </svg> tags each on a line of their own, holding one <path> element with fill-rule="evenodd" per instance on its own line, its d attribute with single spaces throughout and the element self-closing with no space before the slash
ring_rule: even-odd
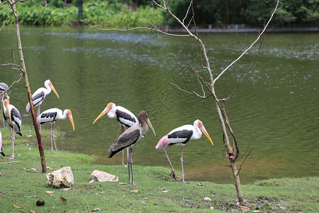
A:
<svg viewBox="0 0 319 213">
<path fill-rule="evenodd" d="M 40 106 L 41 106 L 43 100 L 45 99 L 47 94 L 50 94 L 51 90 L 53 92 L 55 92 L 55 94 L 57 95 L 57 98 L 59 98 L 59 94 L 57 94 L 57 91 L 55 90 L 55 87 L 53 87 L 53 84 L 52 84 L 52 82 L 50 80 L 46 80 L 44 84 L 45 84 L 45 88 L 44 87 L 40 87 L 32 95 L 33 107 L 37 107 L 38 106 L 37 116 L 40 115 Z M 26 105 L 26 112 L 27 113 L 30 112 L 30 103 L 29 102 Z"/>
</svg>

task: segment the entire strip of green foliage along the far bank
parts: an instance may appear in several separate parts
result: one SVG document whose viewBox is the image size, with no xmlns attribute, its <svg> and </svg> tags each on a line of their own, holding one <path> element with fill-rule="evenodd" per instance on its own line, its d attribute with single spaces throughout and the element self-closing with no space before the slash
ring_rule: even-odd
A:
<svg viewBox="0 0 319 213">
<path fill-rule="evenodd" d="M 64 2 L 48 0 L 45 9 L 35 6 L 30 1 L 18 2 L 17 8 L 21 24 L 60 26 L 77 21 L 78 1 L 68 0 L 67 6 L 64 6 Z M 141 17 L 152 22 L 154 14 L 151 3 L 150 0 L 88 0 L 83 3 L 83 18 L 85 21 L 92 21 L 103 26 L 147 26 Z M 275 5 L 275 0 L 198 0 L 194 1 L 194 11 L 198 25 L 220 26 L 237 23 L 255 25 L 264 23 Z M 169 9 L 181 19 L 184 18 L 188 8 L 189 0 L 169 1 Z M 272 23 L 279 26 L 315 26 L 319 23 L 318 8 L 319 0 L 281 0 Z M 9 15 L 8 9 L 9 5 L 0 6 L 1 21 L 4 21 Z M 156 10 L 156 14 L 158 25 L 177 24 L 174 18 L 160 9 Z M 191 13 L 186 21 L 189 21 L 190 18 Z M 13 23 L 13 19 L 11 18 L 8 23 Z"/>
</svg>

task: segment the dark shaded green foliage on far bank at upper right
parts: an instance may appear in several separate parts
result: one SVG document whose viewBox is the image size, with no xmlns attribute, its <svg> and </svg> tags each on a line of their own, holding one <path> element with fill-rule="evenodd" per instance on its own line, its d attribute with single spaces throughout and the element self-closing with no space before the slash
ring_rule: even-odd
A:
<svg viewBox="0 0 319 213">
<path fill-rule="evenodd" d="M 188 0 L 170 1 L 172 11 L 179 17 L 185 16 Z M 262 24 L 274 11 L 276 1 L 266 0 L 198 0 L 194 11 L 198 24 Z M 281 0 L 274 16 L 273 24 L 280 26 L 292 24 L 318 24 L 318 0 Z"/>
</svg>

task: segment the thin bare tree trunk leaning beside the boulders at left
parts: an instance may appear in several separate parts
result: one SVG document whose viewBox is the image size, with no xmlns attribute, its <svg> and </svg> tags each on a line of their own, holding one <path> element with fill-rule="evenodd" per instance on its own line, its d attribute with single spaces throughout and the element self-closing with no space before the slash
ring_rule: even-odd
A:
<svg viewBox="0 0 319 213">
<path fill-rule="evenodd" d="M 19 57 L 20 57 L 20 62 L 21 62 L 21 71 L 22 71 L 22 75 L 24 77 L 24 83 L 26 86 L 26 91 L 28 93 L 28 99 L 30 102 L 30 109 L 31 109 L 31 115 L 32 115 L 32 120 L 33 120 L 33 126 L 35 129 L 35 133 L 38 139 L 38 148 L 39 148 L 39 152 L 40 152 L 40 158 L 41 158 L 41 165 L 42 165 L 42 172 L 46 173 L 47 172 L 47 167 L 45 165 L 45 154 L 43 151 L 43 143 L 41 140 L 41 135 L 40 135 L 40 131 L 38 128 L 38 124 L 35 118 L 35 111 L 34 111 L 34 107 L 33 107 L 33 100 L 32 100 L 32 94 L 31 94 L 31 89 L 30 89 L 30 84 L 28 81 L 28 75 L 26 72 L 26 64 L 24 62 L 23 59 L 23 51 L 22 51 L 22 44 L 21 44 L 21 37 L 20 37 L 20 28 L 19 28 L 19 20 L 18 20 L 18 14 L 16 12 L 16 2 L 13 2 L 12 0 L 9 0 L 10 5 L 11 5 L 11 9 L 13 11 L 13 16 L 16 20 L 16 37 L 18 39 L 18 51 L 19 51 Z"/>
</svg>

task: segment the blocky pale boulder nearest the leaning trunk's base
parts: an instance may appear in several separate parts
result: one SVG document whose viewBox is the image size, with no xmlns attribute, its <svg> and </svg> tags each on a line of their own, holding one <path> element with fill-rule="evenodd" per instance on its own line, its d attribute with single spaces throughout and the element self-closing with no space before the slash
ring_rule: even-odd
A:
<svg viewBox="0 0 319 213">
<path fill-rule="evenodd" d="M 71 168 L 64 167 L 47 173 L 47 186 L 57 188 L 69 188 L 74 185 L 74 178 Z"/>
</svg>

